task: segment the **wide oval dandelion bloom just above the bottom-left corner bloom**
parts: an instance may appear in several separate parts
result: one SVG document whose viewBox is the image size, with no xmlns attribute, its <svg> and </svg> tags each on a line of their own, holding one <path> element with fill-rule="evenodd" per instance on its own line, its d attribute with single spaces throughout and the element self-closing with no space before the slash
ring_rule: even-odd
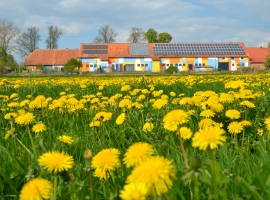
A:
<svg viewBox="0 0 270 200">
<path fill-rule="evenodd" d="M 65 152 L 52 151 L 42 154 L 38 158 L 38 164 L 50 172 L 57 173 L 72 168 L 74 160 Z"/>
</svg>

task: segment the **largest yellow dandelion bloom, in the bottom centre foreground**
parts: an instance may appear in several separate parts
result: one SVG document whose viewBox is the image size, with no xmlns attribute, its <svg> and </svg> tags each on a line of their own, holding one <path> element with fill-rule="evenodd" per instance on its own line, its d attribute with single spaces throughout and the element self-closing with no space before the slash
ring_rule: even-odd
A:
<svg viewBox="0 0 270 200">
<path fill-rule="evenodd" d="M 127 183 L 143 183 L 150 194 L 161 195 L 172 187 L 175 174 L 172 161 L 161 156 L 153 156 L 132 170 Z"/>
</svg>

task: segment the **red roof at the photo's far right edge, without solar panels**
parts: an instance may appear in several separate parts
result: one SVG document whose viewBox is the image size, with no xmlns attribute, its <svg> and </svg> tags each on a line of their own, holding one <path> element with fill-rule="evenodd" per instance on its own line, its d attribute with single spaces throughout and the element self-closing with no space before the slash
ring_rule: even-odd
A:
<svg viewBox="0 0 270 200">
<path fill-rule="evenodd" d="M 249 55 L 251 63 L 263 63 L 267 55 L 270 55 L 270 48 L 265 47 L 246 47 L 245 51 Z"/>
</svg>

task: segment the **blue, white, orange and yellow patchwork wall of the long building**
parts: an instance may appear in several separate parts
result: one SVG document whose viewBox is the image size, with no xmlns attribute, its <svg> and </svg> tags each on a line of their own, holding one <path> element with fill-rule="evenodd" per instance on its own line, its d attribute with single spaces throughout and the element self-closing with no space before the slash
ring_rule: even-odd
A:
<svg viewBox="0 0 270 200">
<path fill-rule="evenodd" d="M 178 67 L 179 71 L 213 71 L 217 70 L 219 63 L 228 63 L 231 71 L 248 66 L 248 57 L 160 57 L 159 61 L 151 58 L 109 58 L 100 61 L 99 58 L 82 58 L 82 72 L 94 72 L 101 68 L 112 67 L 113 71 L 150 71 L 162 72 L 170 65 Z"/>
</svg>

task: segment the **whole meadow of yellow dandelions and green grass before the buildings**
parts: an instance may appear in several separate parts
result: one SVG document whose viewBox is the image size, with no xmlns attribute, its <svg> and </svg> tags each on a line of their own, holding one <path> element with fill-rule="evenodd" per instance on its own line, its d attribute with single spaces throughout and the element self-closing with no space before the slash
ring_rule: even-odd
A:
<svg viewBox="0 0 270 200">
<path fill-rule="evenodd" d="M 0 78 L 0 199 L 269 199 L 270 74 Z"/>
</svg>

